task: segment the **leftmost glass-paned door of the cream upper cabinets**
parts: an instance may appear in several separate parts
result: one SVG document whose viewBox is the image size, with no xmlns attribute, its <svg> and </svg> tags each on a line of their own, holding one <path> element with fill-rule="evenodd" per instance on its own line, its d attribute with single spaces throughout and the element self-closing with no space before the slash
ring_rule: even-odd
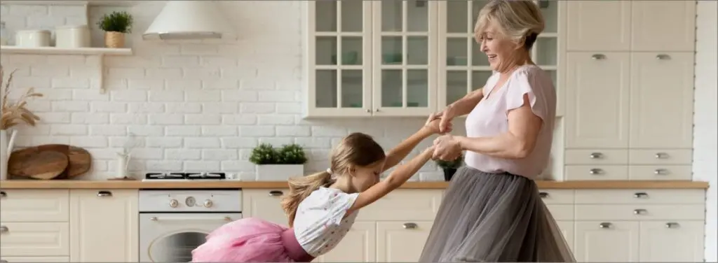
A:
<svg viewBox="0 0 718 263">
<path fill-rule="evenodd" d="M 370 7 L 361 0 L 309 2 L 309 115 L 371 114 Z"/>
</svg>

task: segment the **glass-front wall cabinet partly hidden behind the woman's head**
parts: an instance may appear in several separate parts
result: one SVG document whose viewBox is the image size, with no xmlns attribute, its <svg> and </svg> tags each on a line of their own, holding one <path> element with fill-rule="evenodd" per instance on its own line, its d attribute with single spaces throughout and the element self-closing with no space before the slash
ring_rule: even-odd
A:
<svg viewBox="0 0 718 263">
<path fill-rule="evenodd" d="M 488 1 L 439 1 L 439 110 L 467 93 L 483 87 L 492 71 L 488 57 L 481 52 L 474 37 L 477 16 Z M 544 15 L 546 27 L 533 45 L 533 62 L 549 72 L 560 94 L 559 72 L 559 5 L 560 1 L 536 1 Z M 561 106 L 557 105 L 557 113 Z M 557 114 L 561 115 L 561 114 Z"/>
</svg>

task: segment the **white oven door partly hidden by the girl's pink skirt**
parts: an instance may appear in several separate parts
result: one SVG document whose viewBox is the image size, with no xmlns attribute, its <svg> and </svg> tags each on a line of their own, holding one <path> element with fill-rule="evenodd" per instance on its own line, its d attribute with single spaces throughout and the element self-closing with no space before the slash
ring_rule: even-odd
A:
<svg viewBox="0 0 718 263">
<path fill-rule="evenodd" d="M 192 250 L 205 236 L 241 213 L 141 213 L 139 214 L 140 262 L 191 262 Z"/>
</svg>

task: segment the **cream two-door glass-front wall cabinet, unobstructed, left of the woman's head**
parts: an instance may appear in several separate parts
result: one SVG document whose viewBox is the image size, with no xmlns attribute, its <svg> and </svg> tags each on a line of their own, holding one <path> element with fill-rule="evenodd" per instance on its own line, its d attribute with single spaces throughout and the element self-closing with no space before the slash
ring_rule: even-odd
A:
<svg viewBox="0 0 718 263">
<path fill-rule="evenodd" d="M 308 1 L 307 116 L 436 110 L 435 1 Z"/>
</svg>

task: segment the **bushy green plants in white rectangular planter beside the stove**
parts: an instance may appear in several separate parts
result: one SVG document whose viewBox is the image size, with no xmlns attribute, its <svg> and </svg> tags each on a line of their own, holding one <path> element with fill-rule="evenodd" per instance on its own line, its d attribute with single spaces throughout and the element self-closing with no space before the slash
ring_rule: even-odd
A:
<svg viewBox="0 0 718 263">
<path fill-rule="evenodd" d="M 257 181 L 286 181 L 289 177 L 304 175 L 307 156 L 297 144 L 276 149 L 269 143 L 262 143 L 252 150 L 249 161 L 256 165 Z"/>
</svg>

